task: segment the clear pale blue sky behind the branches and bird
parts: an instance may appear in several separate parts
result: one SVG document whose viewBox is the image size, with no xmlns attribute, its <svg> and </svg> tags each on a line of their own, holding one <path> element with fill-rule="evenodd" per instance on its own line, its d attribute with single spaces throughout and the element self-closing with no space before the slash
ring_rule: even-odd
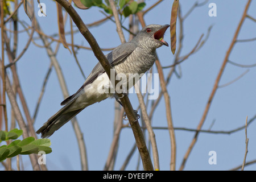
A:
<svg viewBox="0 0 256 182">
<path fill-rule="evenodd" d="M 43 31 L 47 35 L 57 32 L 56 21 L 56 5 L 52 1 L 41 1 L 46 3 L 47 17 L 39 17 L 38 22 Z M 146 8 L 155 1 L 145 1 Z M 166 0 L 161 2 L 157 7 L 147 13 L 144 18 L 146 24 L 169 24 L 171 16 L 172 2 Z M 193 6 L 196 1 L 181 0 L 181 11 L 184 15 Z M 199 1 L 203 2 L 203 1 Z M 216 3 L 217 16 L 210 17 L 208 11 L 209 3 Z M 213 88 L 214 80 L 220 70 L 225 53 L 232 41 L 234 32 L 241 19 L 243 10 L 247 1 L 238 0 L 212 0 L 204 6 L 197 7 L 184 20 L 184 42 L 181 55 L 185 55 L 191 51 L 199 40 L 201 34 L 207 34 L 209 26 L 213 26 L 209 39 L 204 46 L 195 54 L 185 60 L 181 65 L 182 76 L 177 78 L 172 76 L 170 84 L 168 84 L 168 93 L 171 98 L 172 117 L 174 127 L 185 127 L 196 129 L 208 97 Z M 256 2 L 251 2 L 248 14 L 256 18 Z M 78 10 L 81 18 L 85 23 L 92 23 L 96 20 L 104 18 L 100 13 L 100 9 L 92 7 L 88 10 Z M 35 11 L 38 11 L 35 5 Z M 22 9 L 19 10 L 20 18 L 28 22 L 28 18 Z M 69 22 L 69 21 L 68 21 Z M 123 22 L 128 27 L 128 20 Z M 67 31 L 69 30 L 69 23 Z M 21 26 L 19 26 L 22 29 Z M 119 36 L 115 31 L 115 24 L 106 21 L 101 26 L 89 28 L 90 32 L 96 38 L 98 44 L 102 48 L 117 47 L 121 44 Z M 246 19 L 238 39 L 255 38 L 256 23 L 250 19 Z M 26 43 L 27 35 L 19 37 L 19 49 Z M 177 36 L 179 36 L 179 24 L 177 25 Z M 125 32 L 126 40 L 129 34 Z M 203 39 L 204 39 L 203 38 Z M 170 44 L 170 31 L 166 31 L 164 36 L 166 42 Z M 67 42 L 71 39 L 67 36 Z M 40 43 L 39 41 L 37 41 Z M 81 36 L 75 37 L 76 44 L 88 46 L 86 40 Z M 52 44 L 55 49 L 56 43 Z M 178 46 L 178 45 L 177 45 Z M 255 64 L 256 42 L 237 43 L 229 57 L 230 61 L 239 64 Z M 105 54 L 108 51 L 104 52 Z M 163 66 L 171 65 L 174 55 L 171 53 L 170 47 L 160 47 L 157 50 L 160 63 Z M 97 59 L 92 51 L 80 49 L 78 54 L 81 67 L 88 76 Z M 65 76 L 68 85 L 69 94 L 73 94 L 80 88 L 84 82 L 84 78 L 77 67 L 73 55 L 69 53 L 62 45 L 60 46 L 57 59 Z M 50 61 L 46 50 L 43 48 L 30 45 L 27 52 L 18 62 L 18 73 L 20 82 L 30 113 L 34 113 L 36 102 L 38 100 L 40 89 L 44 76 L 49 67 Z M 156 71 L 155 65 L 154 71 Z M 207 130 L 212 125 L 212 130 L 232 130 L 245 125 L 246 116 L 253 118 L 256 114 L 256 72 L 253 68 L 240 68 L 232 64 L 227 64 L 224 74 L 221 77 L 220 85 L 226 84 L 240 76 L 247 69 L 246 73 L 240 80 L 217 89 L 209 113 L 203 125 L 203 129 Z M 164 69 L 164 76 L 167 76 L 170 69 Z M 160 86 L 160 85 L 159 85 Z M 131 104 L 134 108 L 138 106 L 138 98 L 136 94 L 129 95 Z M 51 73 L 47 83 L 46 92 L 44 93 L 42 104 L 38 117 L 35 121 L 35 129 L 39 129 L 51 115 L 55 114 L 61 108 L 60 102 L 63 101 L 60 85 L 57 82 L 55 71 Z M 10 113 L 10 108 L 8 109 Z M 9 117 L 10 118 L 10 117 Z M 88 166 L 90 170 L 102 170 L 104 168 L 110 144 L 113 137 L 113 121 L 114 121 L 114 99 L 108 99 L 100 103 L 87 107 L 77 115 L 79 125 L 84 134 L 86 150 L 88 155 Z M 125 123 L 125 121 L 124 121 Z M 158 105 L 152 118 L 152 126 L 167 126 L 164 100 Z M 249 138 L 247 161 L 253 160 L 255 156 L 255 121 L 249 125 L 247 135 Z M 156 142 L 158 145 L 160 170 L 170 169 L 170 137 L 167 130 L 154 130 Z M 147 135 L 147 134 L 146 134 Z M 192 141 L 194 133 L 189 131 L 176 130 L 177 143 L 177 159 L 176 169 L 179 169 L 181 161 Z M 71 122 L 61 127 L 49 139 L 52 142 L 52 153 L 47 155 L 47 167 L 49 170 L 80 170 L 79 150 L 77 147 L 75 133 L 73 132 Z M 118 156 L 115 164 L 115 170 L 121 168 L 127 154 L 134 144 L 134 137 L 131 129 L 123 129 L 119 140 Z M 210 165 L 208 159 L 209 151 L 216 151 L 217 164 Z M 185 170 L 228 170 L 242 164 L 245 154 L 245 131 L 241 130 L 234 134 L 209 134 L 200 133 L 196 145 L 185 165 Z M 138 151 L 135 152 L 126 169 L 133 170 L 136 168 L 139 158 Z M 24 156 L 24 164 L 28 164 L 28 159 Z M 26 168 L 30 169 L 30 168 Z M 143 169 L 140 165 L 139 169 Z M 255 165 L 248 166 L 245 169 L 254 170 Z"/>
</svg>

